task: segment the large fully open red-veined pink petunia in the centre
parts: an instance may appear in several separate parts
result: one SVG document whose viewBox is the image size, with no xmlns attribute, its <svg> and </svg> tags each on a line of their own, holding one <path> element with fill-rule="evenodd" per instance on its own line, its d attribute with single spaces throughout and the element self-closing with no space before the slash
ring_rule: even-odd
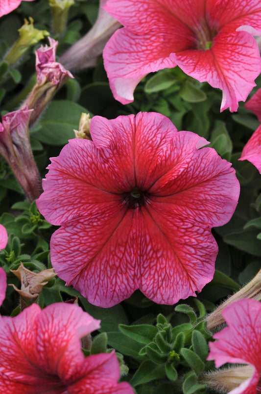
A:
<svg viewBox="0 0 261 394">
<path fill-rule="evenodd" d="M 57 275 L 98 306 L 141 289 L 174 304 L 214 274 L 213 226 L 229 221 L 235 170 L 207 141 L 159 113 L 91 121 L 52 158 L 37 206 L 61 225 L 50 242 Z"/>
</svg>

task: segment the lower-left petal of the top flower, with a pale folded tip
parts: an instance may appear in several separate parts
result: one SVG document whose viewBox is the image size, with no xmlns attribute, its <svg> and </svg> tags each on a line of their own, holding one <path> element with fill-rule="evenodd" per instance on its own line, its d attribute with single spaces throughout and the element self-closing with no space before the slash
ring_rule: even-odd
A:
<svg viewBox="0 0 261 394">
<path fill-rule="evenodd" d="M 151 35 L 143 38 L 124 27 L 113 34 L 103 50 L 103 58 L 117 100 L 122 104 L 130 103 L 135 87 L 146 74 L 176 66 L 165 48 L 163 37 Z"/>
</svg>

